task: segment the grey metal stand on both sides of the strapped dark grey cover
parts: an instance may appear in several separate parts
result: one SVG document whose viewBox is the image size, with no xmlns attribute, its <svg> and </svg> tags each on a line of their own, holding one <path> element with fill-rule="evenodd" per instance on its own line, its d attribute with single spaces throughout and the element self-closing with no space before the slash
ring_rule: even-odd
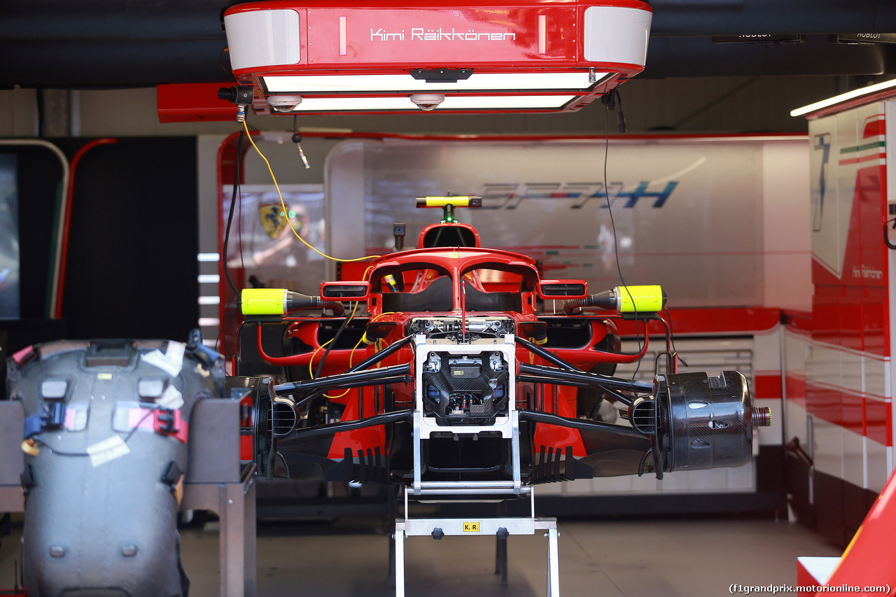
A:
<svg viewBox="0 0 896 597">
<path fill-rule="evenodd" d="M 0 512 L 24 512 L 22 402 L 0 401 Z M 239 463 L 239 403 L 197 402 L 181 509 L 213 510 L 220 517 L 220 595 L 255 597 L 254 465 Z"/>
</svg>

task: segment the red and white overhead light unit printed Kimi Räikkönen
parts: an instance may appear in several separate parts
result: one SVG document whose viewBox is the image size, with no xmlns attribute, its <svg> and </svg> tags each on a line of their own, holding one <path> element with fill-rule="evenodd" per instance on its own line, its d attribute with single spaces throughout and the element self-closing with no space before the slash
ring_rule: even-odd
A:
<svg viewBox="0 0 896 597">
<path fill-rule="evenodd" d="M 230 64 L 254 86 L 255 111 L 574 110 L 643 70 L 652 18 L 641 0 L 337 1 L 224 12 Z M 409 101 L 420 94 L 444 101 Z"/>
</svg>

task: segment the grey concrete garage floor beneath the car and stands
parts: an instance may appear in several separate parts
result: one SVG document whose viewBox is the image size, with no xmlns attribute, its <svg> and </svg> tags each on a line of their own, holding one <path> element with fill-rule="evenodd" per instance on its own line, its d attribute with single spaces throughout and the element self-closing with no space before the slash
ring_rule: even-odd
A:
<svg viewBox="0 0 896 597">
<path fill-rule="evenodd" d="M 566 597 L 716 597 L 729 584 L 794 584 L 797 556 L 840 556 L 840 549 L 797 523 L 765 518 L 664 518 L 561 522 L 560 589 Z M 13 586 L 21 526 L 0 545 L 0 589 Z M 217 523 L 181 532 L 193 597 L 218 595 Z M 262 523 L 260 597 L 393 595 L 389 539 L 379 520 Z M 500 586 L 491 537 L 410 537 L 409 597 L 546 594 L 547 539 L 514 536 L 510 585 Z"/>
</svg>

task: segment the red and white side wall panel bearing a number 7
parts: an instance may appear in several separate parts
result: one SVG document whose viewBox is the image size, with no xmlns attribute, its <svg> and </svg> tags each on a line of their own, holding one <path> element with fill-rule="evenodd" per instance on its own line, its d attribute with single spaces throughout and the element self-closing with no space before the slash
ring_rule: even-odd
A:
<svg viewBox="0 0 896 597">
<path fill-rule="evenodd" d="M 788 398 L 805 395 L 815 417 L 892 446 L 884 128 L 880 103 L 810 123 L 814 297 L 805 394 L 798 375 L 786 383 Z"/>
</svg>

